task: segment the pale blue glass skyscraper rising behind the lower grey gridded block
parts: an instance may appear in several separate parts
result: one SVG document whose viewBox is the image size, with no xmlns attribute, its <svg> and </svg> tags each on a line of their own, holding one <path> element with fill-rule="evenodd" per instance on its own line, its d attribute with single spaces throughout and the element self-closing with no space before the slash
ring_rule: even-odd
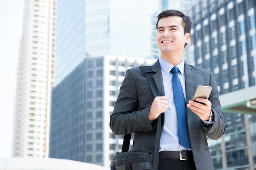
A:
<svg viewBox="0 0 256 170">
<path fill-rule="evenodd" d="M 56 85 L 85 58 L 150 58 L 150 15 L 160 5 L 161 0 L 58 0 Z"/>
</svg>

